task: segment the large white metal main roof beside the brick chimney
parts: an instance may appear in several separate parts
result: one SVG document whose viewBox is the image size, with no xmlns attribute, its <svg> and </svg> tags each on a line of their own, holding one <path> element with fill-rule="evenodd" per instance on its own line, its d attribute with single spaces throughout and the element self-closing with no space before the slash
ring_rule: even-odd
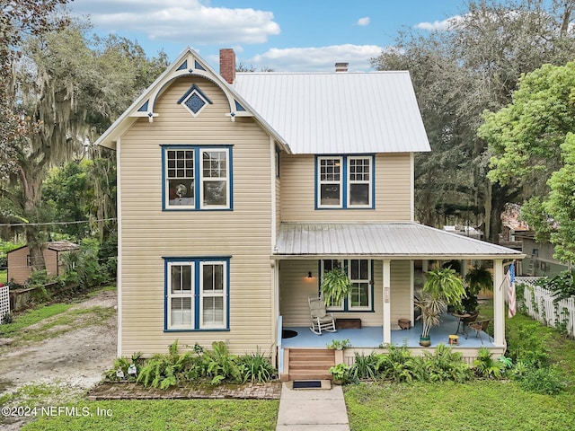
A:
<svg viewBox="0 0 575 431">
<path fill-rule="evenodd" d="M 238 73 L 234 89 L 294 154 L 430 151 L 406 71 Z"/>
</svg>

